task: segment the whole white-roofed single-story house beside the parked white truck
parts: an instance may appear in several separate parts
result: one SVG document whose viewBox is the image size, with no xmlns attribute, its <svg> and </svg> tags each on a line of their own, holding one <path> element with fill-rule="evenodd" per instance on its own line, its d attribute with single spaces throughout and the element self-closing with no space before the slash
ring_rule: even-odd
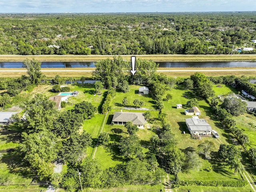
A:
<svg viewBox="0 0 256 192">
<path fill-rule="evenodd" d="M 210 135 L 212 134 L 212 127 L 204 119 L 199 119 L 198 116 L 185 119 L 186 126 L 190 134 L 194 135 Z"/>
</svg>

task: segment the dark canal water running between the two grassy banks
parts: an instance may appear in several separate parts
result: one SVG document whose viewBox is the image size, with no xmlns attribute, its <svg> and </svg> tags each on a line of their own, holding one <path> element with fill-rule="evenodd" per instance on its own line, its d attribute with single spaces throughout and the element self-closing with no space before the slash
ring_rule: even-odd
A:
<svg viewBox="0 0 256 192">
<path fill-rule="evenodd" d="M 159 67 L 256 67 L 256 62 L 156 62 Z M 42 62 L 41 68 L 88 68 L 95 62 Z M 22 62 L 0 62 L 0 68 L 22 68 Z"/>
</svg>

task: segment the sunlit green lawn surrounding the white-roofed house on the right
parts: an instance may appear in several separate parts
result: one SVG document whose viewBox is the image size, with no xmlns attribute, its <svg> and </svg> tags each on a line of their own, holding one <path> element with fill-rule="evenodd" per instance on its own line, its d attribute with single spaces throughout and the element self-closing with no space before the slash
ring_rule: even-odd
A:
<svg viewBox="0 0 256 192">
<path fill-rule="evenodd" d="M 205 119 L 206 122 L 212 126 L 212 129 L 218 132 L 220 138 L 202 137 L 202 140 L 190 138 L 190 133 L 186 128 L 185 119 L 191 118 L 192 116 L 185 115 L 184 110 L 186 108 L 186 102 L 195 96 L 191 90 L 184 90 L 179 86 L 176 89 L 166 91 L 166 94 L 168 93 L 170 93 L 173 98 L 169 101 L 164 101 L 164 113 L 167 114 L 167 119 L 171 124 L 172 131 L 175 134 L 179 148 L 185 149 L 189 146 L 196 148 L 205 140 L 210 140 L 215 143 L 215 150 L 217 151 L 220 144 L 228 144 L 232 142 L 228 139 L 230 136 L 223 129 L 222 124 L 220 124 L 220 122 L 214 117 L 210 106 L 204 100 L 199 100 L 198 108 L 201 111 L 199 118 Z M 176 104 L 182 104 L 183 108 L 177 109 Z M 186 134 L 183 134 L 183 131 L 185 131 Z"/>
</svg>

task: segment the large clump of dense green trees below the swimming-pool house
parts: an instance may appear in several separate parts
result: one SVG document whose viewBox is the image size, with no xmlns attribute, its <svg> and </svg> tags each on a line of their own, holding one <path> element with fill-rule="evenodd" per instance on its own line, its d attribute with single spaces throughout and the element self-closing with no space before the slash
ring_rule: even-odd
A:
<svg viewBox="0 0 256 192">
<path fill-rule="evenodd" d="M 15 122 L 22 131 L 20 147 L 24 159 L 40 179 L 52 176 L 52 162 L 57 157 L 70 165 L 78 164 L 86 157 L 86 149 L 92 143 L 88 133 L 79 134 L 78 130 L 85 119 L 94 116 L 96 107 L 82 102 L 73 110 L 58 114 L 54 106 L 46 96 L 36 94 L 24 103 L 24 118 Z"/>
</svg>

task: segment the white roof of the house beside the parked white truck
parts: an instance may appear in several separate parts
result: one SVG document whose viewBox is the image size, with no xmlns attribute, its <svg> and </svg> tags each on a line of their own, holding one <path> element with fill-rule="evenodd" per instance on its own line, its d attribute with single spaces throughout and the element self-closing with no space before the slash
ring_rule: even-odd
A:
<svg viewBox="0 0 256 192">
<path fill-rule="evenodd" d="M 210 124 L 206 122 L 204 119 L 198 119 L 198 118 L 188 118 L 185 119 L 186 124 L 190 127 L 190 130 L 192 131 L 211 131 L 212 127 Z"/>
</svg>

